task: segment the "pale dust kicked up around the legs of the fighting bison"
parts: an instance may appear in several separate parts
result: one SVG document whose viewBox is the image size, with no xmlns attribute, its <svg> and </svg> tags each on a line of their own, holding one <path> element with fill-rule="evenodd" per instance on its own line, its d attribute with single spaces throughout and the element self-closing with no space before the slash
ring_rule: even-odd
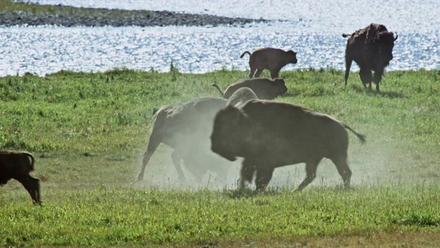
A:
<svg viewBox="0 0 440 248">
<path fill-rule="evenodd" d="M 407 183 L 426 183 L 439 180 L 439 174 L 434 172 L 439 169 L 439 163 L 430 162 L 423 159 L 423 156 L 399 147 L 393 139 L 385 139 L 381 134 L 366 133 L 367 142 L 361 145 L 358 139 L 349 135 L 350 144 L 347 162 L 353 176 L 351 185 L 396 185 Z M 206 142 L 206 141 L 205 141 Z M 209 147 L 209 143 L 206 146 Z M 186 181 L 182 182 L 177 176 L 176 169 L 170 158 L 173 149 L 166 145 L 160 145 L 155 152 L 150 163 L 147 165 L 145 177 L 142 182 L 137 183 L 136 187 L 153 188 L 162 190 L 175 189 L 236 189 L 240 178 L 241 161 L 238 158 L 233 163 L 227 161 L 217 154 L 221 163 L 205 165 L 209 168 L 222 168 L 225 170 L 223 176 L 219 176 L 213 170 L 208 170 L 203 175 L 195 176 L 192 174 L 195 168 L 189 169 L 187 165 L 182 163 L 182 169 L 186 176 Z M 216 160 L 217 161 L 217 160 Z M 140 159 L 140 164 L 142 158 Z M 210 163 L 204 161 L 204 163 Z M 434 166 L 429 167 L 427 163 Z M 136 165 L 136 172 L 140 167 Z M 428 167 L 428 168 L 426 168 Z M 437 169 L 436 169 L 437 168 Z M 278 167 L 274 171 L 274 175 L 268 188 L 293 190 L 298 187 L 305 178 L 305 163 L 296 165 L 287 165 Z M 435 176 L 437 175 L 437 176 Z M 314 187 L 338 187 L 342 185 L 342 178 L 338 174 L 338 170 L 333 162 L 327 158 L 323 158 L 317 169 L 315 180 L 308 185 L 305 190 Z M 254 189 L 255 185 L 249 185 Z"/>
</svg>

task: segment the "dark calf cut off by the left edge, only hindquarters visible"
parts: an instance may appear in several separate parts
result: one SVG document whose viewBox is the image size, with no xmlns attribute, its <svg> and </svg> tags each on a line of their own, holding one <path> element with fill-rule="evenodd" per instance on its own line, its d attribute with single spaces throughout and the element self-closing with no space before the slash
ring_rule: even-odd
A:
<svg viewBox="0 0 440 248">
<path fill-rule="evenodd" d="M 14 178 L 26 190 L 34 203 L 41 205 L 40 180 L 30 176 L 34 170 L 34 156 L 28 152 L 0 151 L 0 185 Z"/>
</svg>

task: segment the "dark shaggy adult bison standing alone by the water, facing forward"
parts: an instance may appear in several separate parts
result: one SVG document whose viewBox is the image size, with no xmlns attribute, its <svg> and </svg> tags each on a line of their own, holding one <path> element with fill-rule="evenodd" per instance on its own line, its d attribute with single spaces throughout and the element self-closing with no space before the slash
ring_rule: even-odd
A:
<svg viewBox="0 0 440 248">
<path fill-rule="evenodd" d="M 359 65 L 360 79 L 366 88 L 371 81 L 376 84 L 379 91 L 379 83 L 384 74 L 384 68 L 393 59 L 394 37 L 393 32 L 388 32 L 382 24 L 371 23 L 368 27 L 353 32 L 353 34 L 342 34 L 342 37 L 350 37 L 345 48 L 345 85 L 349 79 L 350 67 L 353 60 Z M 371 73 L 374 71 L 374 76 Z"/>
</svg>

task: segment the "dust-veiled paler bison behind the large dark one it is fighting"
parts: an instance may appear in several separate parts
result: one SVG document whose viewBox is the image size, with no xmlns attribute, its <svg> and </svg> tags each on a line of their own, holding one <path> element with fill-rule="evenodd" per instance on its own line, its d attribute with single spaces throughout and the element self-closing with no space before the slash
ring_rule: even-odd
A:
<svg viewBox="0 0 440 248">
<path fill-rule="evenodd" d="M 194 176 L 203 176 L 210 170 L 219 177 L 225 177 L 230 163 L 210 150 L 209 136 L 215 114 L 226 103 L 225 99 L 205 97 L 166 105 L 157 110 L 137 179 L 143 180 L 145 167 L 160 143 L 174 149 L 171 158 L 179 180 L 186 180 L 181 161 Z"/>
</svg>

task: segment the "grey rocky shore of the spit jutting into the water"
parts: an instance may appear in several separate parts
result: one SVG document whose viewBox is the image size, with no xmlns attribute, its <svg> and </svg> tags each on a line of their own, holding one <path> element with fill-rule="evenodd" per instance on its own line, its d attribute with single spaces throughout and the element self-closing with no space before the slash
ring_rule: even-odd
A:
<svg viewBox="0 0 440 248">
<path fill-rule="evenodd" d="M 94 12 L 87 9 L 86 14 L 78 8 L 78 13 L 32 13 L 32 12 L 0 12 L 0 27 L 14 25 L 58 25 L 65 27 L 87 26 L 167 26 L 167 25 L 186 25 L 186 26 L 218 26 L 233 25 L 239 26 L 246 23 L 266 22 L 264 19 L 245 19 L 218 17 L 209 14 L 186 14 L 169 11 L 138 11 L 138 10 L 103 10 Z M 118 14 L 120 12 L 121 14 Z M 127 14 L 128 12 L 128 14 Z"/>
</svg>

